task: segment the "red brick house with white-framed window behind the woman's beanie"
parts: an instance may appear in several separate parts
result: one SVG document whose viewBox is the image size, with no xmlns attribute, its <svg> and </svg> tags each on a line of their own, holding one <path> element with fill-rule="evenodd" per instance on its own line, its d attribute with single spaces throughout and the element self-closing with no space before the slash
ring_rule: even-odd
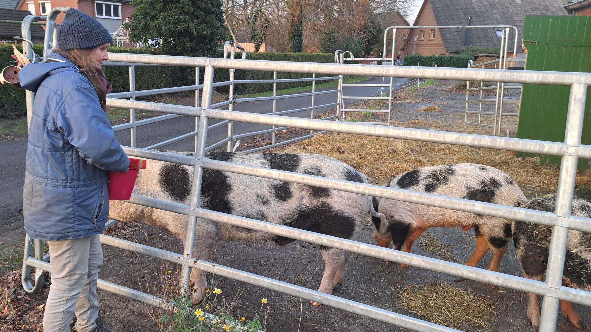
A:
<svg viewBox="0 0 591 332">
<path fill-rule="evenodd" d="M 34 15 L 47 15 L 51 8 L 73 7 L 96 18 L 113 34 L 134 12 L 129 2 L 131 0 L 20 0 L 16 8 L 30 11 Z M 64 15 L 59 15 L 56 19 L 57 24 L 63 19 Z"/>
</svg>

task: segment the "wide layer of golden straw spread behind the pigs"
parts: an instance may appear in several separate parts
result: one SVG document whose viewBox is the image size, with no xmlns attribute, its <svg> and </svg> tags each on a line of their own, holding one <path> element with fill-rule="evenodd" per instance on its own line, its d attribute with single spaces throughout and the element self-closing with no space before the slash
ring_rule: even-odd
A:
<svg viewBox="0 0 591 332">
<path fill-rule="evenodd" d="M 453 119 L 395 122 L 395 126 L 429 125 L 430 128 L 483 134 L 476 126 L 459 126 Z M 463 123 L 463 116 L 462 116 Z M 540 165 L 539 158 L 515 158 L 511 152 L 459 145 L 434 144 L 354 134 L 323 134 L 283 149 L 285 153 L 324 154 L 367 174 L 372 183 L 382 184 L 416 168 L 470 162 L 489 165 L 506 172 L 517 184 L 545 192 L 556 191 L 559 167 Z M 591 172 L 577 174 L 577 184 L 591 186 Z"/>
</svg>

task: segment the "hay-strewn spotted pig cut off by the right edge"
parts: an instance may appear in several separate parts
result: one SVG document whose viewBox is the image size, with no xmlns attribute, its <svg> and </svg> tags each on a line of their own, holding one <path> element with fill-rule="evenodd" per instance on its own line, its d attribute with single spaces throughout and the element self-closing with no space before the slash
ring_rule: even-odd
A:
<svg viewBox="0 0 591 332">
<path fill-rule="evenodd" d="M 525 209 L 554 212 L 556 194 L 536 197 L 528 201 Z M 591 218 L 591 204 L 573 199 L 571 214 Z M 543 281 L 548 262 L 552 228 L 541 224 L 513 222 L 513 243 L 525 278 Z M 591 233 L 569 230 L 564 259 L 563 285 L 591 292 Z M 540 306 L 537 294 L 527 294 L 527 317 L 531 326 L 540 326 Z M 560 300 L 562 313 L 577 328 L 584 329 L 583 321 L 574 311 L 573 304 Z"/>
</svg>

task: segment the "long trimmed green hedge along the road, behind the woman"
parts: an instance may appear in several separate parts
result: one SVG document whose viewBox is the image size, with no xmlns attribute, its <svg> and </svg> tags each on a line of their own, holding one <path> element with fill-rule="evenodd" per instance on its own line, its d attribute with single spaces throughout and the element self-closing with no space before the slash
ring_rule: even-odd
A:
<svg viewBox="0 0 591 332">
<path fill-rule="evenodd" d="M 21 47 L 18 47 L 21 50 Z M 41 45 L 35 45 L 34 51 L 37 54 L 43 53 Z M 109 47 L 112 53 L 139 53 L 139 54 L 162 54 L 155 48 L 122 48 Z M 11 44 L 0 44 L 0 62 L 7 63 L 14 60 Z M 223 57 L 219 52 L 218 57 Z M 241 53 L 236 53 L 236 58 L 242 58 Z M 328 53 L 248 53 L 247 59 L 251 60 L 274 60 L 291 62 L 323 62 L 333 63 L 333 54 Z M 113 92 L 129 91 L 129 69 L 128 67 L 104 67 L 105 76 L 113 84 Z M 318 74 L 317 77 L 327 77 L 329 75 Z M 203 69 L 201 70 L 201 80 L 203 83 Z M 277 73 L 278 79 L 299 79 L 312 77 L 312 74 L 305 73 Z M 272 79 L 273 73 L 269 71 L 256 70 L 236 70 L 234 79 L 236 80 L 257 80 Z M 229 79 L 229 71 L 225 69 L 215 70 L 214 82 L 222 82 Z M 330 81 L 322 81 L 326 83 Z M 138 66 L 135 68 L 135 89 L 149 90 L 172 86 L 187 86 L 195 84 L 195 69 L 190 67 L 147 67 Z M 278 83 L 277 89 L 290 89 L 291 87 L 309 86 L 310 82 L 290 82 Z M 259 84 L 236 84 L 235 93 L 239 95 L 272 91 L 272 83 Z M 228 87 L 219 87 L 216 90 L 220 93 L 228 93 Z M 0 85 L 0 118 L 18 118 L 26 114 L 25 91 L 23 89 L 14 89 L 9 84 Z"/>
</svg>

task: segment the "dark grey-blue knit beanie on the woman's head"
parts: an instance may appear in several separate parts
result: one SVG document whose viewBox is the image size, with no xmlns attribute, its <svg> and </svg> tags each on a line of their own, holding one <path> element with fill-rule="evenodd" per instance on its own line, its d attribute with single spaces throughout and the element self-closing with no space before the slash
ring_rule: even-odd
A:
<svg viewBox="0 0 591 332">
<path fill-rule="evenodd" d="M 57 45 L 61 50 L 95 48 L 112 41 L 113 37 L 99 21 L 75 8 L 66 12 L 66 18 L 57 28 Z"/>
</svg>

